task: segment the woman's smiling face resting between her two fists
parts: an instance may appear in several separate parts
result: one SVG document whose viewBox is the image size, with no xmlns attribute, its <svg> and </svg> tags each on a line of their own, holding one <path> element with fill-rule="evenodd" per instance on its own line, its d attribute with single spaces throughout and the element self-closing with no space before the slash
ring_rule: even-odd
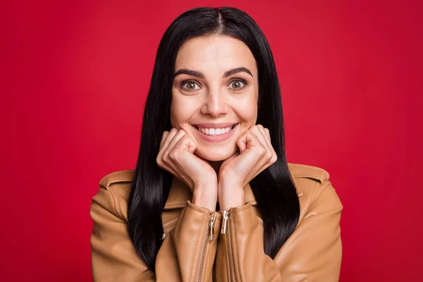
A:
<svg viewBox="0 0 423 282">
<path fill-rule="evenodd" d="M 188 39 L 176 57 L 171 124 L 197 146 L 195 154 L 222 161 L 257 121 L 259 85 L 254 56 L 233 37 Z"/>
</svg>

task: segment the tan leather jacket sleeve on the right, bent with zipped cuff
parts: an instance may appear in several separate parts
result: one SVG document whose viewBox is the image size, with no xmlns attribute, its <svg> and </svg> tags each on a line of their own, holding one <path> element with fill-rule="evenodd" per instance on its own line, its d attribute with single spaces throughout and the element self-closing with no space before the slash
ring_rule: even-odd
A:
<svg viewBox="0 0 423 282">
<path fill-rule="evenodd" d="M 321 185 L 323 192 L 275 259 L 264 253 L 263 226 L 251 204 L 229 209 L 216 254 L 217 281 L 338 281 L 343 206 L 329 181 Z"/>
</svg>

